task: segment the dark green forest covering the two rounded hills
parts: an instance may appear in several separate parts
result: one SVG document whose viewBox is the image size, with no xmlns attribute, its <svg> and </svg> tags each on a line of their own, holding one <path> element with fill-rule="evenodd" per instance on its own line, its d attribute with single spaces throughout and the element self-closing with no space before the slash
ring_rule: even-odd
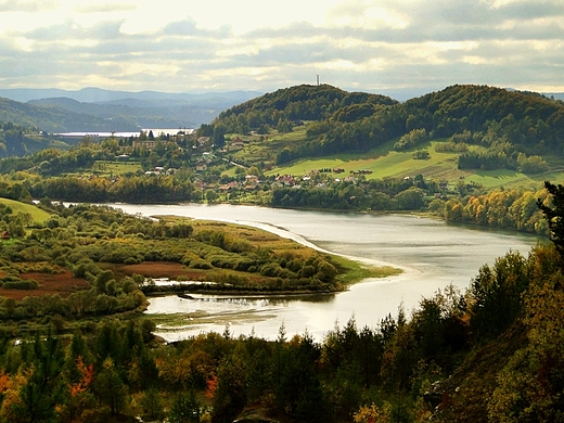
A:
<svg viewBox="0 0 564 423">
<path fill-rule="evenodd" d="M 307 139 L 287 148 L 282 157 L 286 162 L 368 151 L 392 140 L 399 140 L 396 150 L 401 150 L 453 136 L 459 136 L 456 141 L 491 148 L 495 154 L 509 143 L 526 154 L 561 155 L 559 145 L 564 139 L 562 101 L 472 85 L 451 86 L 405 103 L 326 85 L 298 86 L 231 107 L 211 125 L 225 132 L 268 133 L 270 129 L 291 131 L 300 124 L 297 120 L 313 123 Z"/>
</svg>

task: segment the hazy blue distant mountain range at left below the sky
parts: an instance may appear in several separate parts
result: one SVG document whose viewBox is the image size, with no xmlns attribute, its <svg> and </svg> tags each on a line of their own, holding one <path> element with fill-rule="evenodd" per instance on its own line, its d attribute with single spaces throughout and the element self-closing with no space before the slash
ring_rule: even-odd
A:
<svg viewBox="0 0 564 423">
<path fill-rule="evenodd" d="M 0 102 L 0 120 L 38 125 L 49 132 L 197 128 L 210 123 L 226 108 L 259 95 L 261 92 L 256 91 L 167 93 L 100 88 L 78 91 L 55 88 L 0 89 L 0 97 L 4 98 Z M 15 102 L 24 103 L 25 106 L 16 105 Z M 62 115 L 65 116 L 64 123 Z M 37 119 L 37 116 L 41 118 Z"/>
</svg>

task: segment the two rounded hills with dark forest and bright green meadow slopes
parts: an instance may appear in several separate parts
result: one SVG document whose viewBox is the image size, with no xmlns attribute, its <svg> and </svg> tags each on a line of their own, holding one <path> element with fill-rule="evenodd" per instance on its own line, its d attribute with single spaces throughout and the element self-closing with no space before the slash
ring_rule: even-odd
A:
<svg viewBox="0 0 564 423">
<path fill-rule="evenodd" d="M 406 170 L 448 179 L 479 174 L 476 181 L 496 185 L 484 178 L 502 184 L 508 176 L 522 180 L 562 168 L 564 103 L 487 86 L 452 86 L 405 103 L 298 86 L 231 107 L 203 129 L 216 139 L 226 134 L 228 144 L 242 137 L 249 148 L 231 155 L 274 166 L 273 174 L 335 165 L 368 168 L 372 178 Z M 431 159 L 415 163 L 420 150 Z"/>
</svg>

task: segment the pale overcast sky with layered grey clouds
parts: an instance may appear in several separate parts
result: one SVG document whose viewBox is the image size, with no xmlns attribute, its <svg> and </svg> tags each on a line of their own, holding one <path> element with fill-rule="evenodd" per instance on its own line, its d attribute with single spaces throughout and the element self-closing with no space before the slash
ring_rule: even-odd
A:
<svg viewBox="0 0 564 423">
<path fill-rule="evenodd" d="M 0 87 L 564 91 L 564 0 L 0 0 Z M 426 92 L 426 91 L 425 91 Z"/>
</svg>

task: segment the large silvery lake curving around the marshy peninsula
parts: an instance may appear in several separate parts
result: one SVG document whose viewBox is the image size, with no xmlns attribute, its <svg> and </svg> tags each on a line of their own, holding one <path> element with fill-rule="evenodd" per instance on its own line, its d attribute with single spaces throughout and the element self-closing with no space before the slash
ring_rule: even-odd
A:
<svg viewBox="0 0 564 423">
<path fill-rule="evenodd" d="M 283 324 L 287 336 L 304 334 L 321 341 L 335 324 L 355 318 L 357 326 L 376 328 L 388 313 L 403 307 L 408 316 L 423 297 L 453 284 L 464 291 L 479 268 L 492 265 L 509 251 L 525 256 L 536 236 L 452 226 L 411 215 L 364 215 L 273 209 L 233 205 L 125 205 L 126 213 L 143 216 L 177 215 L 258 227 L 318 249 L 371 264 L 403 269 L 397 277 L 367 279 L 346 292 L 331 295 L 256 298 L 244 296 L 177 296 L 151 298 L 148 313 L 182 313 L 181 326 L 157 326 L 167 341 L 201 332 L 232 335 L 252 332 L 275 338 Z"/>
</svg>

